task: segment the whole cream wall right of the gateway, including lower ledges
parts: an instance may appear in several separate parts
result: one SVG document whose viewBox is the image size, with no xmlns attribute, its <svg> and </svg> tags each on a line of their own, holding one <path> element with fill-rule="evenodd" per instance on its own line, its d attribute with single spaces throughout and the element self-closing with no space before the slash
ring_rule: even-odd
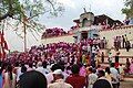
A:
<svg viewBox="0 0 133 88">
<path fill-rule="evenodd" d="M 112 47 L 114 44 L 114 37 L 115 36 L 121 36 L 126 34 L 127 40 L 131 42 L 131 44 L 133 44 L 133 25 L 131 26 L 123 26 L 122 29 L 114 29 L 114 30 L 110 30 L 110 31 L 100 31 L 100 37 L 106 37 L 108 40 L 108 47 Z M 133 57 L 133 48 L 131 48 L 129 52 L 126 52 L 125 48 L 121 48 L 120 51 L 120 63 L 125 64 L 125 58 L 130 58 Z M 105 53 L 105 56 L 108 56 L 106 54 L 106 50 L 101 50 L 101 52 Z M 111 50 L 111 53 L 113 54 L 113 56 L 115 56 L 115 50 Z M 108 57 L 105 58 L 105 61 L 108 62 Z"/>
</svg>

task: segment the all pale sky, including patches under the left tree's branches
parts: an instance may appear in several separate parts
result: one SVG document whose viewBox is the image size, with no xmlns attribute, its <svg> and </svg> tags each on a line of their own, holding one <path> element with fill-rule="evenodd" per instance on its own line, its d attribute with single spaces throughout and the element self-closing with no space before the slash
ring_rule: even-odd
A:
<svg viewBox="0 0 133 88">
<path fill-rule="evenodd" d="M 83 8 L 86 11 L 91 11 L 94 15 L 106 14 L 114 20 L 123 21 L 125 15 L 122 14 L 121 9 L 124 7 L 123 0 L 58 0 L 63 3 L 65 11 L 58 18 L 49 18 L 43 14 L 40 16 L 40 23 L 47 28 L 63 28 L 65 31 L 70 30 L 74 25 L 73 20 L 79 19 L 80 14 L 83 13 Z M 41 34 L 37 35 L 37 41 L 30 32 L 28 36 L 28 47 L 32 45 L 39 45 Z M 35 35 L 35 34 L 34 34 Z M 11 51 L 22 51 L 23 40 L 16 35 L 12 30 L 6 31 L 6 38 Z"/>
</svg>

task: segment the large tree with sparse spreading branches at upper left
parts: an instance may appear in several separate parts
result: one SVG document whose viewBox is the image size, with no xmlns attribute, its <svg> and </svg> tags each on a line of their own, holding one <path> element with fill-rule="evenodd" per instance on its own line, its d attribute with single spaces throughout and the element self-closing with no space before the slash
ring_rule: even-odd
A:
<svg viewBox="0 0 133 88">
<path fill-rule="evenodd" d="M 10 21 L 10 18 L 16 20 L 13 22 L 17 26 L 16 33 L 20 31 L 18 26 L 23 24 L 24 51 L 27 50 L 27 30 L 30 32 L 43 30 L 43 25 L 38 23 L 39 16 L 44 13 L 58 16 L 63 11 L 63 6 L 57 0 L 0 0 L 0 21 Z M 10 21 L 9 24 L 12 25 L 12 22 Z M 18 35 L 21 36 L 21 34 Z"/>
</svg>

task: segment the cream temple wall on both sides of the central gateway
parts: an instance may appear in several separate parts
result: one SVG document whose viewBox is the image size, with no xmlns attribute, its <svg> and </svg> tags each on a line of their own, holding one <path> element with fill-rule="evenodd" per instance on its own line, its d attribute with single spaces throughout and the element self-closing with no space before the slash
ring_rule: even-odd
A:
<svg viewBox="0 0 133 88">
<path fill-rule="evenodd" d="M 90 28 L 82 28 L 80 30 L 84 30 L 84 29 L 90 30 Z M 124 35 L 124 34 L 126 34 L 127 40 L 130 40 L 131 44 L 133 44 L 133 25 L 122 26 L 122 29 L 100 31 L 99 34 L 100 34 L 101 38 L 106 37 L 109 48 L 114 45 L 113 42 L 114 42 L 115 36 L 121 36 L 121 35 Z M 74 34 L 43 38 L 41 41 L 41 43 L 42 44 L 59 43 L 59 42 L 74 43 L 73 35 Z M 108 50 L 101 50 L 101 52 L 102 51 L 105 52 L 105 54 L 106 54 Z M 115 50 L 112 50 L 111 52 L 112 52 L 113 56 L 115 56 Z M 108 56 L 108 54 L 106 54 L 106 56 Z M 133 56 L 133 48 L 131 48 L 130 52 L 126 52 L 126 50 L 120 50 L 120 56 L 122 56 L 122 58 L 132 57 Z"/>
</svg>

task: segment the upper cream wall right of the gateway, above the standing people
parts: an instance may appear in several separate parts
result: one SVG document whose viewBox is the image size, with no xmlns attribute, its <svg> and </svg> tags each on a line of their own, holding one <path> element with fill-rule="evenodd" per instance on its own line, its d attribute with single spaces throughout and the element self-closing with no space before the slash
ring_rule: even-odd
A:
<svg viewBox="0 0 133 88">
<path fill-rule="evenodd" d="M 124 26 L 122 29 L 114 29 L 108 31 L 100 31 L 100 37 L 106 37 L 108 40 L 108 47 L 112 47 L 114 44 L 114 37 L 121 36 L 126 34 L 127 40 L 133 44 L 133 25 L 132 26 Z"/>
</svg>

